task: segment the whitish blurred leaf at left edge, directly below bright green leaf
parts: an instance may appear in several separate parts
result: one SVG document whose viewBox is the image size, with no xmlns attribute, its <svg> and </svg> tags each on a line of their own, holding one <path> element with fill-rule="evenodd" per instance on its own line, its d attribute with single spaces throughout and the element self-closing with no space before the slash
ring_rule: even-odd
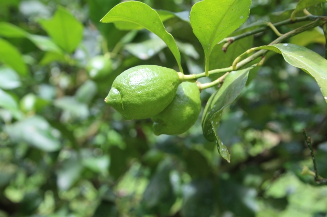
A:
<svg viewBox="0 0 327 217">
<path fill-rule="evenodd" d="M 19 75 L 14 70 L 7 67 L 0 67 L 0 88 L 10 90 L 18 88 L 21 85 Z"/>
</svg>

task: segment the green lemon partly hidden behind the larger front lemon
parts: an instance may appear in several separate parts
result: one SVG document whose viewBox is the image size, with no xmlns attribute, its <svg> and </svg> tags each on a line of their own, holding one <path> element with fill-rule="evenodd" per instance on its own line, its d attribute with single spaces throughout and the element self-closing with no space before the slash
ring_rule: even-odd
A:
<svg viewBox="0 0 327 217">
<path fill-rule="evenodd" d="M 201 111 L 200 91 L 196 83 L 183 82 L 165 110 L 152 117 L 155 135 L 178 135 L 194 125 Z"/>
</svg>

